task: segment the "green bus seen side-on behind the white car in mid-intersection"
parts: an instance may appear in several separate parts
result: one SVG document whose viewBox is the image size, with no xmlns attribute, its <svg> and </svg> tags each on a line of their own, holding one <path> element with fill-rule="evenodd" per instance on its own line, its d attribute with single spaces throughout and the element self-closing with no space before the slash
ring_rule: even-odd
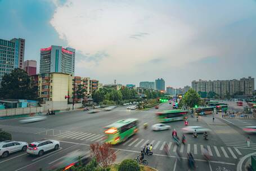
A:
<svg viewBox="0 0 256 171">
<path fill-rule="evenodd" d="M 160 123 L 187 119 L 186 110 L 165 110 L 156 113 Z"/>
</svg>

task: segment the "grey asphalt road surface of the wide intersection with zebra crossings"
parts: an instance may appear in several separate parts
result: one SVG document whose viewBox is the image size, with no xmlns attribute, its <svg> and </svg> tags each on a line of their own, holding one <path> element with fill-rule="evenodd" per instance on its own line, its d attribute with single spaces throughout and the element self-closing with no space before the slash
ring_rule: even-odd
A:
<svg viewBox="0 0 256 171">
<path fill-rule="evenodd" d="M 185 127 L 183 121 L 167 123 L 171 131 L 154 132 L 150 129 L 143 129 L 143 123 L 149 126 L 157 123 L 155 112 L 171 109 L 171 105 L 163 104 L 158 110 L 130 111 L 126 106 L 117 107 L 112 111 L 102 111 L 96 114 L 88 114 L 85 111 L 70 111 L 66 113 L 48 116 L 47 120 L 37 123 L 20 124 L 17 119 L 0 120 L 0 128 L 11 132 L 14 140 L 32 142 L 43 138 L 59 140 L 61 149 L 52 151 L 42 157 L 30 157 L 25 152 L 17 152 L 0 159 L 0 167 L 3 170 L 50 170 L 53 165 L 59 162 L 62 156 L 75 150 L 89 151 L 89 145 L 93 142 L 103 142 L 104 126 L 117 120 L 125 118 L 137 118 L 140 120 L 140 131 L 126 142 L 113 146 L 116 151 L 116 163 L 126 158 L 135 158 L 140 154 L 145 143 L 153 145 L 154 155 L 146 156 L 149 165 L 158 170 L 188 170 L 186 154 L 191 151 L 196 160 L 196 170 L 236 170 L 239 159 L 251 151 L 256 150 L 255 137 L 251 137 L 250 147 L 246 146 L 246 135 L 241 132 L 241 127 L 219 118 L 221 114 L 212 116 L 200 116 L 199 122 L 195 118 L 188 118 L 188 124 L 199 125 L 209 128 L 209 140 L 203 140 L 203 135 L 193 138 L 186 134 L 187 143 L 185 146 L 177 147 L 172 140 L 172 130 L 175 128 L 178 136 L 182 135 L 181 128 Z M 254 123 L 252 123 L 254 124 Z M 168 157 L 163 145 L 167 142 L 170 146 L 171 156 Z M 205 146 L 211 154 L 210 161 L 206 161 L 201 154 L 201 148 Z M 182 160 L 176 158 L 176 151 L 179 151 Z M 223 169 L 225 168 L 225 169 Z"/>
</svg>

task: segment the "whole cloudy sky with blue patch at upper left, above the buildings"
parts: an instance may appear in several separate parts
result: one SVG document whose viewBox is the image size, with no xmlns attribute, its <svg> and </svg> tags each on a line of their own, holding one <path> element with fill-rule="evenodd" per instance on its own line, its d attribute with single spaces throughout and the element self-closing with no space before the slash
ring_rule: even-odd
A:
<svg viewBox="0 0 256 171">
<path fill-rule="evenodd" d="M 25 60 L 51 45 L 77 51 L 75 75 L 101 83 L 256 77 L 256 1 L 0 0 L 0 38 Z"/>
</svg>

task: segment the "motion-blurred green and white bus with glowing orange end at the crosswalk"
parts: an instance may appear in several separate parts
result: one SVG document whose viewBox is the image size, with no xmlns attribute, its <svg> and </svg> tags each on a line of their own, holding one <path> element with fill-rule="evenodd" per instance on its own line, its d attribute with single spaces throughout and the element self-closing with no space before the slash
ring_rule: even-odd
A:
<svg viewBox="0 0 256 171">
<path fill-rule="evenodd" d="M 124 142 L 138 132 L 138 119 L 128 118 L 119 120 L 104 128 L 106 128 L 105 134 L 107 135 L 105 142 L 115 145 Z"/>
</svg>

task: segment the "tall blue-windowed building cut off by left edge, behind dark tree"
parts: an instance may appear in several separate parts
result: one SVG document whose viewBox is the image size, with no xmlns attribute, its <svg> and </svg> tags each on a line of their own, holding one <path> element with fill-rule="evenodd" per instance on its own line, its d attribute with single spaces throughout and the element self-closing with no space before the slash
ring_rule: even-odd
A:
<svg viewBox="0 0 256 171">
<path fill-rule="evenodd" d="M 25 53 L 25 39 L 0 39 L 0 84 L 6 73 L 15 68 L 23 69 Z"/>
</svg>

